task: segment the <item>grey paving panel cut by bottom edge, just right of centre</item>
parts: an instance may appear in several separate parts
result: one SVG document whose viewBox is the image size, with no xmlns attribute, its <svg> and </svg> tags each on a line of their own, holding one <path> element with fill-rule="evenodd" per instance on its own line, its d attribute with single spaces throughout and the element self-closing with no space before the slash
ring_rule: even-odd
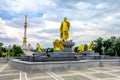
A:
<svg viewBox="0 0 120 80">
<path fill-rule="evenodd" d="M 80 75 L 64 76 L 62 78 L 65 79 L 65 80 L 91 80 L 87 77 L 83 77 L 83 76 L 80 76 Z"/>
</svg>

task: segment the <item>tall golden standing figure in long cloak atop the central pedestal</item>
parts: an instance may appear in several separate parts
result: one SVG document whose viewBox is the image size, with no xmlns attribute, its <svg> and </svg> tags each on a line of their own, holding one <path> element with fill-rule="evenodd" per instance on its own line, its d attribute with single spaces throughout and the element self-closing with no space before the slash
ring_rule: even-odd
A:
<svg viewBox="0 0 120 80">
<path fill-rule="evenodd" d="M 61 22 L 60 26 L 60 38 L 62 41 L 65 41 L 69 38 L 69 28 L 70 23 L 67 21 L 67 18 L 64 17 L 64 21 Z"/>
</svg>

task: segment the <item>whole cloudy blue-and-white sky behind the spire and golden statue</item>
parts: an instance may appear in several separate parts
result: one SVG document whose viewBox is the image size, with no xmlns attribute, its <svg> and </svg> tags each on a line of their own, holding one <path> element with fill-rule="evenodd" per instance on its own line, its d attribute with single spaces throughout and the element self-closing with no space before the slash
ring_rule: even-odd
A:
<svg viewBox="0 0 120 80">
<path fill-rule="evenodd" d="M 22 45 L 24 15 L 27 41 L 33 47 L 37 42 L 52 47 L 65 16 L 71 23 L 69 40 L 76 46 L 120 36 L 120 0 L 0 0 L 0 42 Z"/>
</svg>

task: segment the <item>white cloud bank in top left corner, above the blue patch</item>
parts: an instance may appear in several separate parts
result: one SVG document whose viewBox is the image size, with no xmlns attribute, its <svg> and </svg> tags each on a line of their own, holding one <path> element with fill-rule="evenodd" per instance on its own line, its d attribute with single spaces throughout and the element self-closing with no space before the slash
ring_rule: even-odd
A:
<svg viewBox="0 0 120 80">
<path fill-rule="evenodd" d="M 44 11 L 55 4 L 51 0 L 1 0 L 0 10 L 20 13 L 23 11 L 39 12 Z"/>
</svg>

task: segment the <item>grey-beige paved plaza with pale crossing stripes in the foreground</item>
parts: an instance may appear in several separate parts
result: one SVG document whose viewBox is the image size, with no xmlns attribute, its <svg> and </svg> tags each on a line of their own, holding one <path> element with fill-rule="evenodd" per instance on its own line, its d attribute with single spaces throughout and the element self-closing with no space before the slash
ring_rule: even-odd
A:
<svg viewBox="0 0 120 80">
<path fill-rule="evenodd" d="M 120 80 L 120 66 L 46 73 L 26 73 L 0 63 L 0 80 Z"/>
</svg>

